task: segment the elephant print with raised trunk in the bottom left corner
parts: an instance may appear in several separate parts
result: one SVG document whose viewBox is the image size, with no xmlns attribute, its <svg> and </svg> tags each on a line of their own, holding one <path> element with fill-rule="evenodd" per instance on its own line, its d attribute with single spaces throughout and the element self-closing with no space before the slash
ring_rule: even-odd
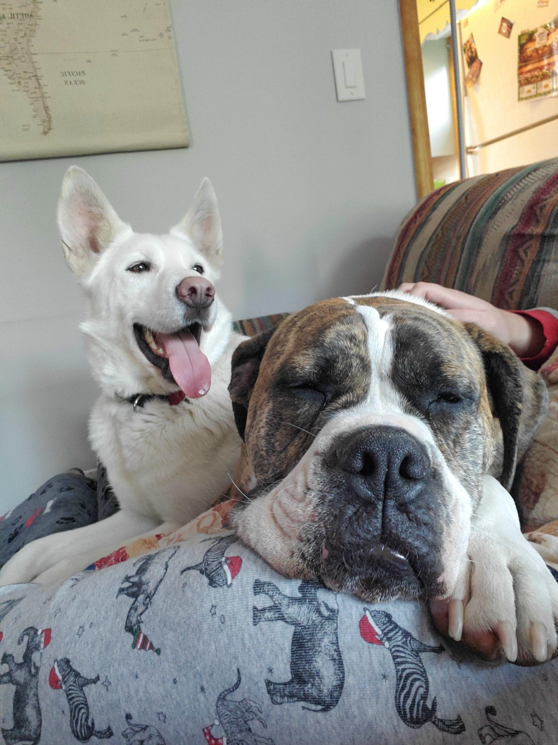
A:
<svg viewBox="0 0 558 745">
<path fill-rule="evenodd" d="M 22 662 L 16 662 L 13 654 L 5 652 L 0 660 L 1 665 L 8 667 L 7 673 L 0 673 L 0 685 L 16 686 L 13 694 L 13 727 L 1 730 L 6 745 L 36 745 L 41 739 L 39 670 L 42 652 L 51 641 L 51 630 L 29 626 L 19 635 L 17 643 L 23 644 L 25 639 L 27 641 Z"/>
</svg>

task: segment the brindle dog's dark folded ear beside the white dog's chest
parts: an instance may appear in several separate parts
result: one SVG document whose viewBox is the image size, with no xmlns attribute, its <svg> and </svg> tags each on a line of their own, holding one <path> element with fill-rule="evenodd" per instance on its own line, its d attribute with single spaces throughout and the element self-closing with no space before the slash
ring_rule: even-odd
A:
<svg viewBox="0 0 558 745">
<path fill-rule="evenodd" d="M 260 373 L 263 355 L 275 329 L 277 329 L 277 326 L 243 341 L 234 350 L 232 356 L 231 382 L 228 385 L 228 393 L 233 405 L 234 423 L 237 425 L 238 434 L 243 440 L 250 396 Z"/>
</svg>

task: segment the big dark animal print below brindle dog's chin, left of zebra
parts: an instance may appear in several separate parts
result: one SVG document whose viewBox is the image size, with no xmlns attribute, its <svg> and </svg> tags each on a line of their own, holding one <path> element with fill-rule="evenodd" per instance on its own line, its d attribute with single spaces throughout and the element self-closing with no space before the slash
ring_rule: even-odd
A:
<svg viewBox="0 0 558 745">
<path fill-rule="evenodd" d="M 343 692 L 345 672 L 335 595 L 323 592 L 318 582 L 304 581 L 298 586 L 300 597 L 283 595 L 272 582 L 255 580 L 254 595 L 267 595 L 272 606 L 252 610 L 254 626 L 263 621 L 283 621 L 295 627 L 291 641 L 291 679 L 284 683 L 266 680 L 272 703 L 304 702 L 307 711 L 330 711 Z M 335 604 L 334 604 L 335 603 Z"/>
</svg>

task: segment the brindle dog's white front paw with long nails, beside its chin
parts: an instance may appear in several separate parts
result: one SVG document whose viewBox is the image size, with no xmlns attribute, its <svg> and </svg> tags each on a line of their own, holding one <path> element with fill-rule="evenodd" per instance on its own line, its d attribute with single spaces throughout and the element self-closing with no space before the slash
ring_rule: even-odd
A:
<svg viewBox="0 0 558 745">
<path fill-rule="evenodd" d="M 447 633 L 488 656 L 545 662 L 557 650 L 558 583 L 519 530 L 510 495 L 499 485 L 495 495 L 498 501 L 477 512 L 467 556 L 445 600 Z M 433 615 L 436 621 L 434 608 Z"/>
</svg>

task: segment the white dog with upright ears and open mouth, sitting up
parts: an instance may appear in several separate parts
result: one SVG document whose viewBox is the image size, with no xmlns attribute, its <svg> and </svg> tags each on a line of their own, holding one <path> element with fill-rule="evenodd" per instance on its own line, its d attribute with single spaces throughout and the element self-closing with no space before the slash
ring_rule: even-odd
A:
<svg viewBox="0 0 558 745">
<path fill-rule="evenodd" d="M 243 337 L 215 294 L 222 233 L 211 183 L 167 234 L 141 234 L 73 166 L 58 224 L 88 299 L 81 328 L 102 390 L 89 437 L 121 510 L 26 545 L 0 571 L 3 585 L 53 583 L 138 534 L 176 529 L 225 489 L 239 454 L 227 386 Z"/>
</svg>

